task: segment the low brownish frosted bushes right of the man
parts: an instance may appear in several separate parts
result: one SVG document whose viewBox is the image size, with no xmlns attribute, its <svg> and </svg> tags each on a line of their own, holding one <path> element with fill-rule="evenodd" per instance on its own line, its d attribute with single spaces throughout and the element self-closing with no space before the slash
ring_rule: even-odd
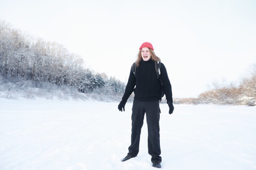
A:
<svg viewBox="0 0 256 170">
<path fill-rule="evenodd" d="M 221 104 L 256 106 L 256 64 L 250 77 L 242 79 L 238 86 L 215 85 L 210 91 L 203 92 L 198 98 L 180 98 L 176 103 Z"/>
</svg>

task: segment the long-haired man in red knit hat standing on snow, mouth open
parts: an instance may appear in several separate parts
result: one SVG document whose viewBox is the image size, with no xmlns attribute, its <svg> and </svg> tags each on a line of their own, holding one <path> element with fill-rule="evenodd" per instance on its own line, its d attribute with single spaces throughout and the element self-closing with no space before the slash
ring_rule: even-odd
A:
<svg viewBox="0 0 256 170">
<path fill-rule="evenodd" d="M 157 68 L 156 66 L 159 63 L 160 67 Z M 124 111 L 125 103 L 134 91 L 131 145 L 129 146 L 129 153 L 122 159 L 122 162 L 137 157 L 137 154 L 139 153 L 139 139 L 144 114 L 146 113 L 146 123 L 148 125 L 148 151 L 151 155 L 153 166 L 161 168 L 159 101 L 161 101 L 162 89 L 166 95 L 169 113 L 171 114 L 174 111 L 174 105 L 171 83 L 166 72 L 166 67 L 154 53 L 153 45 L 151 45 L 150 42 L 144 42 L 139 47 L 137 61 L 134 62 L 132 66 L 124 96 L 118 105 L 119 111 Z"/>
</svg>

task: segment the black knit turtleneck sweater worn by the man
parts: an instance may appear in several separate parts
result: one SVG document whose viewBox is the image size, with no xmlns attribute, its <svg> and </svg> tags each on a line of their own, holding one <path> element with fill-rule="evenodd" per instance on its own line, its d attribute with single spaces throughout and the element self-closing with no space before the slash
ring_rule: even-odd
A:
<svg viewBox="0 0 256 170">
<path fill-rule="evenodd" d="M 161 63 L 161 74 L 159 78 L 162 81 L 166 100 L 173 102 L 171 83 L 166 72 L 166 67 Z M 127 86 L 124 91 L 123 101 L 127 101 L 129 96 L 134 91 L 134 98 L 138 101 L 157 101 L 161 100 L 161 81 L 157 78 L 155 62 L 153 60 L 139 63 L 134 75 L 132 69 L 129 74 Z"/>
</svg>

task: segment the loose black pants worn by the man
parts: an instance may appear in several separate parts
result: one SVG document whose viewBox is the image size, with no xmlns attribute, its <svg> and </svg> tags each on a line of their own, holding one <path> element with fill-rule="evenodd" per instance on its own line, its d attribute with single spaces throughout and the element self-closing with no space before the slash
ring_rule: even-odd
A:
<svg viewBox="0 0 256 170">
<path fill-rule="evenodd" d="M 132 139 L 131 145 L 129 146 L 129 154 L 136 156 L 139 153 L 139 138 L 145 113 L 148 128 L 148 150 L 151 155 L 151 162 L 161 162 L 159 101 L 142 102 L 134 99 L 132 106 Z"/>
</svg>

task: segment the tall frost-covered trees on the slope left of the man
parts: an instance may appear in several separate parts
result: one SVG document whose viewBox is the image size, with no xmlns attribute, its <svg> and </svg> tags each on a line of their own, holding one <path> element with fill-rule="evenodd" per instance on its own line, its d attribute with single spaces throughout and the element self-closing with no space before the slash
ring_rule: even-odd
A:
<svg viewBox="0 0 256 170">
<path fill-rule="evenodd" d="M 82 57 L 70 54 L 63 45 L 35 40 L 4 21 L 0 21 L 0 74 L 6 81 L 18 77 L 50 82 L 85 94 L 104 89 L 107 95 L 117 95 L 125 88 L 122 81 L 85 69 Z"/>
</svg>

